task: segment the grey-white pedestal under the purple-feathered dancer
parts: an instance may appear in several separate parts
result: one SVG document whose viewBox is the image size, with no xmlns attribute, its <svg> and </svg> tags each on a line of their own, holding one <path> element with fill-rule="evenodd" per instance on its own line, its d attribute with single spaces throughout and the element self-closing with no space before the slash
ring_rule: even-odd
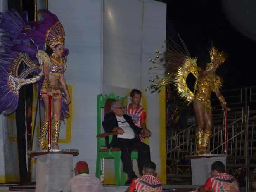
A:
<svg viewBox="0 0 256 192">
<path fill-rule="evenodd" d="M 74 176 L 73 156 L 78 154 L 78 150 L 71 149 L 31 152 L 31 156 L 37 159 L 35 191 L 62 191 Z"/>
</svg>

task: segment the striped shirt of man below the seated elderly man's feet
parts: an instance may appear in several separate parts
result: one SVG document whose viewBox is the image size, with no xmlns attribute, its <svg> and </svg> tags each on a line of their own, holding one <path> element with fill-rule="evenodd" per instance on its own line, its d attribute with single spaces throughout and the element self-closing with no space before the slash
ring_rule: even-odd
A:
<svg viewBox="0 0 256 192">
<path fill-rule="evenodd" d="M 130 184 L 131 192 L 162 192 L 162 182 L 153 175 L 143 175 Z"/>
</svg>

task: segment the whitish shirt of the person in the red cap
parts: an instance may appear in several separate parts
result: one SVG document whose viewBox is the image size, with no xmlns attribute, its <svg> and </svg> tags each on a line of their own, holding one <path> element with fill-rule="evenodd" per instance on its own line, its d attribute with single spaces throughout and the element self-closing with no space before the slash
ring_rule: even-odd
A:
<svg viewBox="0 0 256 192">
<path fill-rule="evenodd" d="M 102 190 L 103 186 L 98 178 L 82 173 L 69 180 L 63 192 L 102 192 Z"/>
</svg>

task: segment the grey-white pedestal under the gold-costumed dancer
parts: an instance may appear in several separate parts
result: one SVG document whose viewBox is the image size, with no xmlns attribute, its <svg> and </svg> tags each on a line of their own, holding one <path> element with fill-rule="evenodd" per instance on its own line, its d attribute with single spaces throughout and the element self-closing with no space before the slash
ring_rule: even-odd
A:
<svg viewBox="0 0 256 192">
<path fill-rule="evenodd" d="M 195 155 L 191 159 L 192 185 L 204 185 L 211 176 L 211 164 L 221 161 L 226 166 L 226 155 L 209 154 Z"/>
</svg>

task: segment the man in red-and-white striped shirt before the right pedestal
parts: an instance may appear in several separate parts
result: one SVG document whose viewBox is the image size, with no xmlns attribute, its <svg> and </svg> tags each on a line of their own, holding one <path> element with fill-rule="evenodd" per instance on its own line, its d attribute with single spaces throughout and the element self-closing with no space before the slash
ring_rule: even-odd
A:
<svg viewBox="0 0 256 192">
<path fill-rule="evenodd" d="M 211 164 L 211 177 L 195 191 L 240 192 L 237 181 L 232 175 L 226 173 L 225 165 L 221 161 L 215 161 Z"/>
</svg>

